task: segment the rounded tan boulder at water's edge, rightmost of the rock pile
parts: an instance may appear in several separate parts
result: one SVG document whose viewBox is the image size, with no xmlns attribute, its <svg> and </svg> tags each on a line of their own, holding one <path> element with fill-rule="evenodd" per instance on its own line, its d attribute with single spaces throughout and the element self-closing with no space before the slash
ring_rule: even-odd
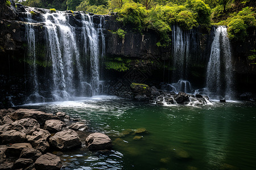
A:
<svg viewBox="0 0 256 170">
<path fill-rule="evenodd" d="M 103 133 L 90 134 L 85 143 L 89 150 L 101 150 L 112 147 L 111 139 Z"/>
</svg>

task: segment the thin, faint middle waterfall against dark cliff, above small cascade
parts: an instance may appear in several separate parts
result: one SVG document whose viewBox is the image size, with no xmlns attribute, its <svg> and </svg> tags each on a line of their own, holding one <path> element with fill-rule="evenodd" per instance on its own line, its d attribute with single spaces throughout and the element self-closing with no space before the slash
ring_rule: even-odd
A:
<svg viewBox="0 0 256 170">
<path fill-rule="evenodd" d="M 172 27 L 172 61 L 175 68 L 172 82 L 186 79 L 189 63 L 189 33 L 184 32 L 178 25 Z"/>
</svg>

